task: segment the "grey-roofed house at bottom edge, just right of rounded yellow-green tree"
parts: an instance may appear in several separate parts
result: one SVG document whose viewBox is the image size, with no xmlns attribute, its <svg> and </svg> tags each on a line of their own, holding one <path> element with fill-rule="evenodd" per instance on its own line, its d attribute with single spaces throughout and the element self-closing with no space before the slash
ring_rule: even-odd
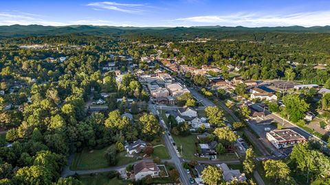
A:
<svg viewBox="0 0 330 185">
<path fill-rule="evenodd" d="M 239 170 L 231 170 L 225 163 L 217 164 L 217 167 L 221 169 L 225 182 L 245 182 L 247 180 L 245 173 L 241 173 Z"/>
</svg>

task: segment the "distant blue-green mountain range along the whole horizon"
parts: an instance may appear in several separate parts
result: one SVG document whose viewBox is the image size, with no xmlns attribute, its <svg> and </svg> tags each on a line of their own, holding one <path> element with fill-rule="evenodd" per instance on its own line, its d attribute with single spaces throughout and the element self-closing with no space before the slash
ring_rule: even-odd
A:
<svg viewBox="0 0 330 185">
<path fill-rule="evenodd" d="M 201 30 L 202 29 L 202 30 Z M 289 27 L 223 27 L 223 26 L 204 26 L 204 27 L 114 27 L 114 26 L 93 26 L 93 25 L 68 25 L 62 27 L 43 26 L 43 25 L 9 25 L 0 26 L 1 38 L 23 37 L 23 36 L 49 36 L 63 34 L 129 34 L 157 32 L 193 33 L 193 32 L 289 32 L 289 33 L 330 33 L 330 26 L 289 26 Z"/>
</svg>

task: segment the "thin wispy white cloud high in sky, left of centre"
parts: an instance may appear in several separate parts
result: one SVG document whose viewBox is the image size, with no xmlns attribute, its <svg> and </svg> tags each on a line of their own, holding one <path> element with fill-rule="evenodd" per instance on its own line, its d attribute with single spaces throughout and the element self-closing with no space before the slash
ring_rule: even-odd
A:
<svg viewBox="0 0 330 185">
<path fill-rule="evenodd" d="M 116 3 L 113 1 L 104 1 L 104 2 L 94 2 L 94 3 L 88 3 L 88 6 L 99 9 L 105 9 L 105 10 L 115 10 L 118 12 L 125 12 L 125 13 L 131 13 L 136 14 L 143 12 L 142 8 L 146 7 L 143 4 L 135 4 L 135 3 Z"/>
</svg>

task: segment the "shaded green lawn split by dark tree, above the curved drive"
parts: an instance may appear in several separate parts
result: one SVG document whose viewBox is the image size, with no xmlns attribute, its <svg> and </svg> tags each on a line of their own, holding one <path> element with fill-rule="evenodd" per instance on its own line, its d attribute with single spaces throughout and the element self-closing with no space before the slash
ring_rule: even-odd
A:
<svg viewBox="0 0 330 185">
<path fill-rule="evenodd" d="M 72 170 L 87 170 L 87 169 L 102 169 L 109 167 L 107 160 L 104 158 L 104 151 L 107 150 L 107 147 L 104 149 L 95 149 L 87 150 L 84 149 L 80 153 L 75 153 L 74 161 L 70 169 Z M 122 151 L 117 154 L 117 164 L 128 164 L 134 162 L 135 158 L 125 157 L 126 151 Z"/>
</svg>

